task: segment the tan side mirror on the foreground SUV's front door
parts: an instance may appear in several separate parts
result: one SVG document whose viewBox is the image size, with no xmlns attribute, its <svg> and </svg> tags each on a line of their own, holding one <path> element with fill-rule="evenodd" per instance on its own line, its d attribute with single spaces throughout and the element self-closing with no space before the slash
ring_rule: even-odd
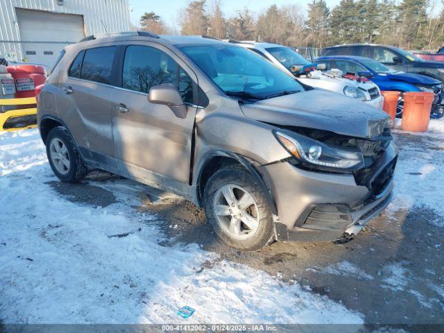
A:
<svg viewBox="0 0 444 333">
<path fill-rule="evenodd" d="M 164 83 L 151 87 L 148 101 L 153 104 L 167 105 L 176 117 L 187 118 L 187 105 L 182 101 L 178 88 L 171 83 Z"/>
</svg>

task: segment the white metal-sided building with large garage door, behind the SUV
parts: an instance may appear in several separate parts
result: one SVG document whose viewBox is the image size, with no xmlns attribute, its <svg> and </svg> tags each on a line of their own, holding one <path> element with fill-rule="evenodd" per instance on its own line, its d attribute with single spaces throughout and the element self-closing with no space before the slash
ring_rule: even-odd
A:
<svg viewBox="0 0 444 333">
<path fill-rule="evenodd" d="M 52 67 L 87 35 L 131 31 L 128 0 L 0 0 L 0 58 Z"/>
</svg>

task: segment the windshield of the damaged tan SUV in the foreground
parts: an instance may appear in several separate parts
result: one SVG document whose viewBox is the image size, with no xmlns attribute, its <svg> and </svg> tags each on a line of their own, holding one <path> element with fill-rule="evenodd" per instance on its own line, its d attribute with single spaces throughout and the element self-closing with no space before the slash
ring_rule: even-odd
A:
<svg viewBox="0 0 444 333">
<path fill-rule="evenodd" d="M 199 45 L 180 49 L 231 96 L 266 99 L 304 90 L 297 80 L 240 46 Z"/>
</svg>

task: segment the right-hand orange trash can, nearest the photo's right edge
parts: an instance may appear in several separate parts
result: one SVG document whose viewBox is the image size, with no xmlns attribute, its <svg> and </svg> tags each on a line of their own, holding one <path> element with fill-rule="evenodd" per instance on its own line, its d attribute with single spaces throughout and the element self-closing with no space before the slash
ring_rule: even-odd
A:
<svg viewBox="0 0 444 333">
<path fill-rule="evenodd" d="M 435 94 L 433 92 L 404 92 L 403 95 L 402 130 L 427 132 Z"/>
</svg>

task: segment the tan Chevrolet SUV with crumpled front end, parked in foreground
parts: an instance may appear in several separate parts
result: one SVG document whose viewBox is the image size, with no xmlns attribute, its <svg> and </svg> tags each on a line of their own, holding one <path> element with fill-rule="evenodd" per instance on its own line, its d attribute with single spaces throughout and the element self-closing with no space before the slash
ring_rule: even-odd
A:
<svg viewBox="0 0 444 333">
<path fill-rule="evenodd" d="M 37 119 L 60 180 L 102 169 L 173 191 L 244 250 L 354 236 L 391 199 L 386 113 L 210 38 L 139 32 L 66 46 Z"/>
</svg>

